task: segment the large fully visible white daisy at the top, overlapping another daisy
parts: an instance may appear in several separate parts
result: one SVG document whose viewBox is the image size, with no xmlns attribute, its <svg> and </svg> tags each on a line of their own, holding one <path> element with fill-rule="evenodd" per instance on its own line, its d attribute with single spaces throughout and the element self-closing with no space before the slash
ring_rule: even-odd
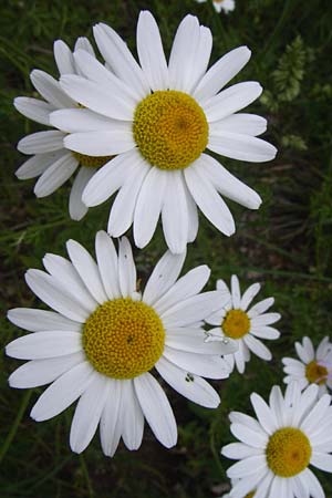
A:
<svg viewBox="0 0 332 498">
<path fill-rule="evenodd" d="M 261 94 L 260 84 L 222 90 L 248 62 L 250 50 L 240 46 L 207 71 L 211 32 L 187 15 L 167 64 L 158 27 L 147 11 L 137 24 L 141 65 L 108 25 L 94 27 L 94 35 L 106 68 L 77 50 L 75 63 L 85 77 L 61 77 L 62 89 L 89 112 L 51 115 L 51 123 L 69 134 L 68 148 L 89 156 L 116 155 L 91 178 L 83 201 L 96 206 L 120 190 L 107 231 L 118 237 L 134 224 L 141 248 L 152 239 L 162 214 L 169 249 L 184 251 L 197 235 L 196 206 L 221 232 L 234 234 L 232 216 L 219 194 L 251 209 L 261 199 L 206 151 L 249 162 L 276 155 L 272 145 L 257 138 L 266 120 L 237 114 Z"/>
</svg>

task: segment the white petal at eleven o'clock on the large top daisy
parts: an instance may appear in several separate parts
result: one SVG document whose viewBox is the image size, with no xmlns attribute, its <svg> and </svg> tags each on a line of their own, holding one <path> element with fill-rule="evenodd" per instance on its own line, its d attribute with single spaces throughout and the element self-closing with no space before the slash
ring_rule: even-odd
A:
<svg viewBox="0 0 332 498">
<path fill-rule="evenodd" d="M 112 28 L 103 23 L 95 25 L 93 33 L 101 54 L 114 74 L 131 89 L 135 89 L 137 97 L 144 98 L 149 93 L 149 86 L 126 43 Z"/>
</svg>

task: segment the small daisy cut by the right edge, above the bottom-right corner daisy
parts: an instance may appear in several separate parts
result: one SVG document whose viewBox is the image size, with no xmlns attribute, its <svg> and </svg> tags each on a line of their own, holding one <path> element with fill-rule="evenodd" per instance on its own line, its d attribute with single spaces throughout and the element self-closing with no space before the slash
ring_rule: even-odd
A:
<svg viewBox="0 0 332 498">
<path fill-rule="evenodd" d="M 303 390 L 309 384 L 318 384 L 320 394 L 332 388 L 332 343 L 330 338 L 324 338 L 317 351 L 310 338 L 303 338 L 302 344 L 295 342 L 295 350 L 299 360 L 283 357 L 283 371 L 287 376 L 283 378 L 286 384 L 297 381 L 300 388 Z"/>
</svg>

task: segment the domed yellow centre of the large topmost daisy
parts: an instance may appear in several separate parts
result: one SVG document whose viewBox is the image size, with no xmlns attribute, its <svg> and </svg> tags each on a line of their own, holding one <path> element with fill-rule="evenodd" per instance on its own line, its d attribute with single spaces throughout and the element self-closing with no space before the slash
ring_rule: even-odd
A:
<svg viewBox="0 0 332 498">
<path fill-rule="evenodd" d="M 188 94 L 157 91 L 136 107 L 133 127 L 141 154 L 160 169 L 184 169 L 208 143 L 203 108 Z"/>
</svg>

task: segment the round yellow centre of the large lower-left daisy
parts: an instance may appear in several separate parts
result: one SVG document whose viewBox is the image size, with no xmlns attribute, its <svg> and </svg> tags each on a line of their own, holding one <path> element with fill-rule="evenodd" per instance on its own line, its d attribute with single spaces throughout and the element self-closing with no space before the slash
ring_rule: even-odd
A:
<svg viewBox="0 0 332 498">
<path fill-rule="evenodd" d="M 114 299 L 100 305 L 83 328 L 83 347 L 95 370 L 113 378 L 149 371 L 164 351 L 165 330 L 142 301 Z"/>
</svg>

